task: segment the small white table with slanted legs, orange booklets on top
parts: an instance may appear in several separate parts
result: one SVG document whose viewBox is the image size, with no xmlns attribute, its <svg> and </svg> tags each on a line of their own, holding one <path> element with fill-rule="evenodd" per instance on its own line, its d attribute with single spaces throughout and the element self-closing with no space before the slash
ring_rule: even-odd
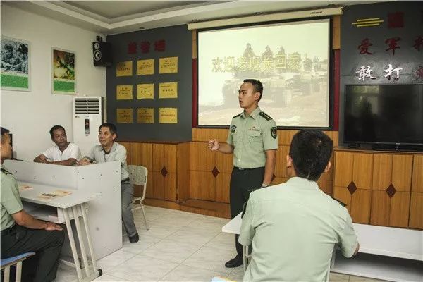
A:
<svg viewBox="0 0 423 282">
<path fill-rule="evenodd" d="M 32 188 L 20 190 L 20 197 L 24 204 L 26 212 L 37 219 L 44 221 L 51 221 L 54 223 L 65 223 L 68 231 L 69 241 L 71 243 L 71 250 L 73 260 L 75 262 L 76 273 L 78 281 L 92 281 L 102 275 L 102 270 L 97 269 L 97 262 L 94 257 L 94 249 L 92 247 L 92 239 L 90 236 L 90 228 L 88 228 L 87 219 L 87 205 L 86 203 L 97 197 L 99 193 L 87 192 L 82 190 L 63 189 L 51 185 L 42 185 L 39 183 L 24 183 L 18 182 L 19 186 L 27 185 Z M 71 195 L 56 197 L 54 199 L 43 199 L 38 197 L 42 193 L 53 192 L 54 190 L 68 190 Z M 85 234 L 82 232 L 80 226 L 80 217 L 83 219 L 85 227 Z M 73 229 L 71 219 L 75 221 L 75 228 L 78 234 L 78 241 L 80 245 L 80 252 L 85 266 L 85 277 L 82 277 L 82 269 L 78 259 L 78 252 L 76 250 L 75 238 L 73 237 Z M 93 269 L 90 269 L 87 259 L 87 252 L 85 250 L 84 238 L 87 240 L 90 257 L 92 260 Z"/>
</svg>

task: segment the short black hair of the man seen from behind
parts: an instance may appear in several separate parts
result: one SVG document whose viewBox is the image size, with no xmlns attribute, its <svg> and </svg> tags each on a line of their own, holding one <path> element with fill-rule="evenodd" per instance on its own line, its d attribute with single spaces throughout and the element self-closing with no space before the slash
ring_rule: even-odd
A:
<svg viewBox="0 0 423 282">
<path fill-rule="evenodd" d="M 321 130 L 300 130 L 293 137 L 289 155 L 298 177 L 316 181 L 331 159 L 333 141 Z"/>
</svg>

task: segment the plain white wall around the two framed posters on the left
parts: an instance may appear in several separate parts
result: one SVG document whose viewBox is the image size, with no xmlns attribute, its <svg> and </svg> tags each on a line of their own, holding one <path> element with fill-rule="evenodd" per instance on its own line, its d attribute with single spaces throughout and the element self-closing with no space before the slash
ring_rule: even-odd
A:
<svg viewBox="0 0 423 282">
<path fill-rule="evenodd" d="M 30 42 L 31 92 L 2 90 L 0 123 L 13 133 L 18 159 L 32 161 L 53 144 L 52 125 L 63 125 L 73 141 L 73 95 L 51 94 L 51 47 L 75 51 L 78 95 L 105 97 L 106 68 L 92 64 L 98 34 L 2 3 L 1 35 Z"/>
</svg>

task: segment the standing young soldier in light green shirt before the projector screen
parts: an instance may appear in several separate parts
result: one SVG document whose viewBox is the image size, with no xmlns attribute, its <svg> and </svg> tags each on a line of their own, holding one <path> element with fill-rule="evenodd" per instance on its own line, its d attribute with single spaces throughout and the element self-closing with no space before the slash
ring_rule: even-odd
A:
<svg viewBox="0 0 423 282">
<path fill-rule="evenodd" d="M 226 143 L 209 141 L 209 149 L 224 154 L 233 153 L 230 197 L 231 218 L 243 210 L 250 192 L 271 183 L 275 171 L 278 136 L 275 121 L 259 108 L 263 85 L 259 80 L 247 79 L 238 90 L 241 114 L 232 118 Z M 243 264 L 243 248 L 235 235 L 237 255 L 226 267 Z"/>
</svg>

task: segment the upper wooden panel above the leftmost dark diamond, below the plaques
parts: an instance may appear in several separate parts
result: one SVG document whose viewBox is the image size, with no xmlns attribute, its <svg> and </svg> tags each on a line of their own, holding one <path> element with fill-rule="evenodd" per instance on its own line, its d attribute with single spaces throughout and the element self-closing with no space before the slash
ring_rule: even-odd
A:
<svg viewBox="0 0 423 282">
<path fill-rule="evenodd" d="M 153 144 L 153 171 L 166 167 L 168 172 L 176 172 L 177 145 Z"/>
</svg>

